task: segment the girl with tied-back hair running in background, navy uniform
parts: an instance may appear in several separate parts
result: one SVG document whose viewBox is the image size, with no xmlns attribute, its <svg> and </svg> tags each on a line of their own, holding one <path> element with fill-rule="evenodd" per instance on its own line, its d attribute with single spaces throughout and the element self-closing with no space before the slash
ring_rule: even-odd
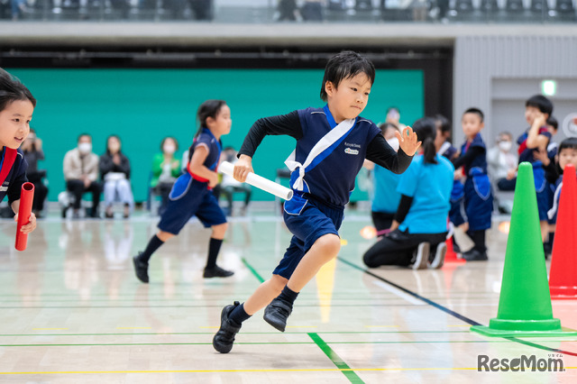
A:
<svg viewBox="0 0 577 384">
<path fill-rule="evenodd" d="M 152 236 L 146 249 L 133 258 L 136 277 L 148 283 L 148 261 L 152 253 L 171 237 L 179 234 L 193 215 L 213 233 L 208 243 L 205 278 L 225 278 L 234 274 L 216 265 L 216 257 L 226 232 L 226 218 L 210 190 L 218 184 L 218 160 L 222 144 L 220 137 L 231 132 L 231 110 L 222 100 L 207 100 L 198 107 L 200 123 L 195 140 L 188 150 L 188 172 L 174 183 L 169 203 L 160 217 L 160 231 Z"/>
</svg>

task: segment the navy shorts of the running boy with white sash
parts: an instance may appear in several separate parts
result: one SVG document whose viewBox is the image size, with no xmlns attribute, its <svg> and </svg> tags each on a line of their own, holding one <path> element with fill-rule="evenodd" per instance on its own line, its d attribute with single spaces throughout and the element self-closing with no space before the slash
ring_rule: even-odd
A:
<svg viewBox="0 0 577 384">
<path fill-rule="evenodd" d="M 285 202 L 283 216 L 285 224 L 294 236 L 279 266 L 272 274 L 290 279 L 297 269 L 298 262 L 319 237 L 328 233 L 338 236 L 338 230 L 343 223 L 344 207 L 327 206 L 313 197 L 307 195 L 301 197 L 295 194 L 292 199 Z"/>
</svg>

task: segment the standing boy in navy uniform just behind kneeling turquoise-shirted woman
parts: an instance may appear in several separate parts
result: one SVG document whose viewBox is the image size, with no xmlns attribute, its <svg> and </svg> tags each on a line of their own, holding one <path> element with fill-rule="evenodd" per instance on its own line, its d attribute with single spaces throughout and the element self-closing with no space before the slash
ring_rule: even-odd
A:
<svg viewBox="0 0 577 384">
<path fill-rule="evenodd" d="M 485 126 L 483 120 L 484 115 L 480 109 L 469 108 L 464 112 L 461 123 L 467 140 L 463 142 L 460 156 L 453 160 L 454 168 L 463 167 L 463 175 L 466 177 L 463 204 L 467 217 L 455 220 L 452 216 L 451 220 L 455 225 L 465 223 L 467 234 L 475 243 L 471 251 L 463 253 L 466 261 L 488 260 L 485 230 L 490 228 L 493 197 L 487 176 L 487 147 L 481 137 L 481 129 Z"/>
</svg>

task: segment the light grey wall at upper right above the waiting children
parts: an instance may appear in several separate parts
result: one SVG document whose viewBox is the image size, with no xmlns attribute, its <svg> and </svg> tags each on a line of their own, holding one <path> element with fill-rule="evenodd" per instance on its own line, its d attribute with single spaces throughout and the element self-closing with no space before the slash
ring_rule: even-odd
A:
<svg viewBox="0 0 577 384">
<path fill-rule="evenodd" d="M 511 81 L 515 79 L 515 81 Z M 459 36 L 455 40 L 453 122 L 454 142 L 463 142 L 461 114 L 474 105 L 486 114 L 487 142 L 504 127 L 514 134 L 526 124 L 524 101 L 540 93 L 543 79 L 558 82 L 551 97 L 559 122 L 577 112 L 577 37 L 555 35 Z M 517 105 L 518 104 L 518 105 Z M 517 106 L 516 106 L 517 105 Z M 563 138 L 560 135 L 557 141 Z"/>
</svg>

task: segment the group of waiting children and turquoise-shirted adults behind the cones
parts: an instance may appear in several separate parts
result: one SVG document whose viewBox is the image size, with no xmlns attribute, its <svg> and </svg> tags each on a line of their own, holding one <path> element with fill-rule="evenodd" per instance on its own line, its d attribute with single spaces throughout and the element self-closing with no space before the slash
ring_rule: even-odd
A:
<svg viewBox="0 0 577 384">
<path fill-rule="evenodd" d="M 451 123 L 437 114 L 413 124 L 423 144 L 405 173 L 395 175 L 365 164 L 373 173 L 371 215 L 379 239 L 365 253 L 365 264 L 412 265 L 415 270 L 440 268 L 447 238 L 453 239 L 454 250 L 463 259 L 487 261 L 485 234 L 491 226 L 491 215 L 494 210 L 511 213 L 521 162 L 528 162 L 533 168 L 547 258 L 553 247 L 563 169 L 568 163 L 577 166 L 577 140 L 565 139 L 560 145 L 554 142 L 557 121 L 553 103 L 545 96 L 529 97 L 525 107 L 529 127 L 517 138 L 517 151 L 508 132 L 499 133 L 495 145 L 488 149 L 481 135 L 484 114 L 478 108 L 469 108 L 461 121 L 465 136 L 462 145 L 453 146 Z M 380 124 L 383 136 L 395 151 L 396 133 L 402 132 L 404 126 L 399 118 L 398 108 L 390 107 L 385 123 Z M 431 133 L 432 126 L 435 134 Z M 411 178 L 419 181 L 416 184 Z M 447 223 L 438 223 L 438 217 L 447 217 Z"/>
</svg>

